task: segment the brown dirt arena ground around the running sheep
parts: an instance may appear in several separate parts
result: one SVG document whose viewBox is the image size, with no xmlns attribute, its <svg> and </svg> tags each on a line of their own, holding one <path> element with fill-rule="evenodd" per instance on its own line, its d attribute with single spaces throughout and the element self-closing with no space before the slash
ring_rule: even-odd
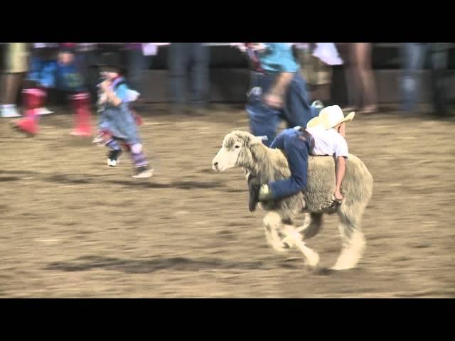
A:
<svg viewBox="0 0 455 341">
<path fill-rule="evenodd" d="M 150 107 L 141 134 L 154 163 L 134 180 L 127 156 L 68 136 L 70 114 L 24 138 L 0 121 L 0 297 L 455 297 L 454 119 L 358 115 L 350 151 L 375 188 L 358 269 L 312 274 L 276 254 L 262 212 L 247 208 L 240 169 L 214 173 L 223 136 L 248 130 L 240 108 L 205 117 Z M 309 241 L 322 266 L 340 251 L 336 217 Z"/>
</svg>

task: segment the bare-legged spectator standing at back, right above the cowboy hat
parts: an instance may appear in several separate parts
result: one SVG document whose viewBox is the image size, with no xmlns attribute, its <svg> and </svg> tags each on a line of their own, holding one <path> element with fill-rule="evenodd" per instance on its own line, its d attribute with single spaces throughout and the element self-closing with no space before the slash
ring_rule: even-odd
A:
<svg viewBox="0 0 455 341">
<path fill-rule="evenodd" d="M 344 45 L 348 107 L 343 110 L 365 114 L 378 111 L 375 76 L 371 67 L 371 43 Z"/>
</svg>

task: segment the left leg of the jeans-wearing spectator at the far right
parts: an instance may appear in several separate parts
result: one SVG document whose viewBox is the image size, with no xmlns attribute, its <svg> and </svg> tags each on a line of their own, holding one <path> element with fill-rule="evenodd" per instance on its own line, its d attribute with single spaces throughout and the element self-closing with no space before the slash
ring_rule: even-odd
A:
<svg viewBox="0 0 455 341">
<path fill-rule="evenodd" d="M 403 109 L 412 112 L 419 96 L 417 72 L 424 66 L 427 43 L 404 43 L 403 53 Z"/>
</svg>

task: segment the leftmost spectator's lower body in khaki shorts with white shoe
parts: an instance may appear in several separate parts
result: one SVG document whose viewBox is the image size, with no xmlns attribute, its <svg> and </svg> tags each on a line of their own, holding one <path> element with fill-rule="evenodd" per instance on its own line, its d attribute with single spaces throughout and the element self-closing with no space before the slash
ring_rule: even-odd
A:
<svg viewBox="0 0 455 341">
<path fill-rule="evenodd" d="M 28 70 L 28 43 L 6 43 L 4 53 L 4 77 L 2 79 L 1 117 L 20 117 L 16 100 L 23 75 Z"/>
</svg>

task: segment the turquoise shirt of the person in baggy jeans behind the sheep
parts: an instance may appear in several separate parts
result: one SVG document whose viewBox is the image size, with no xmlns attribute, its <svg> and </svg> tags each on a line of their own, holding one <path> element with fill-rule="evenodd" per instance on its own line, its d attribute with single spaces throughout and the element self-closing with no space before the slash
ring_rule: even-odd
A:
<svg viewBox="0 0 455 341">
<path fill-rule="evenodd" d="M 259 53 L 261 66 L 270 72 L 297 72 L 300 69 L 289 43 L 264 43 L 267 50 Z"/>
</svg>

